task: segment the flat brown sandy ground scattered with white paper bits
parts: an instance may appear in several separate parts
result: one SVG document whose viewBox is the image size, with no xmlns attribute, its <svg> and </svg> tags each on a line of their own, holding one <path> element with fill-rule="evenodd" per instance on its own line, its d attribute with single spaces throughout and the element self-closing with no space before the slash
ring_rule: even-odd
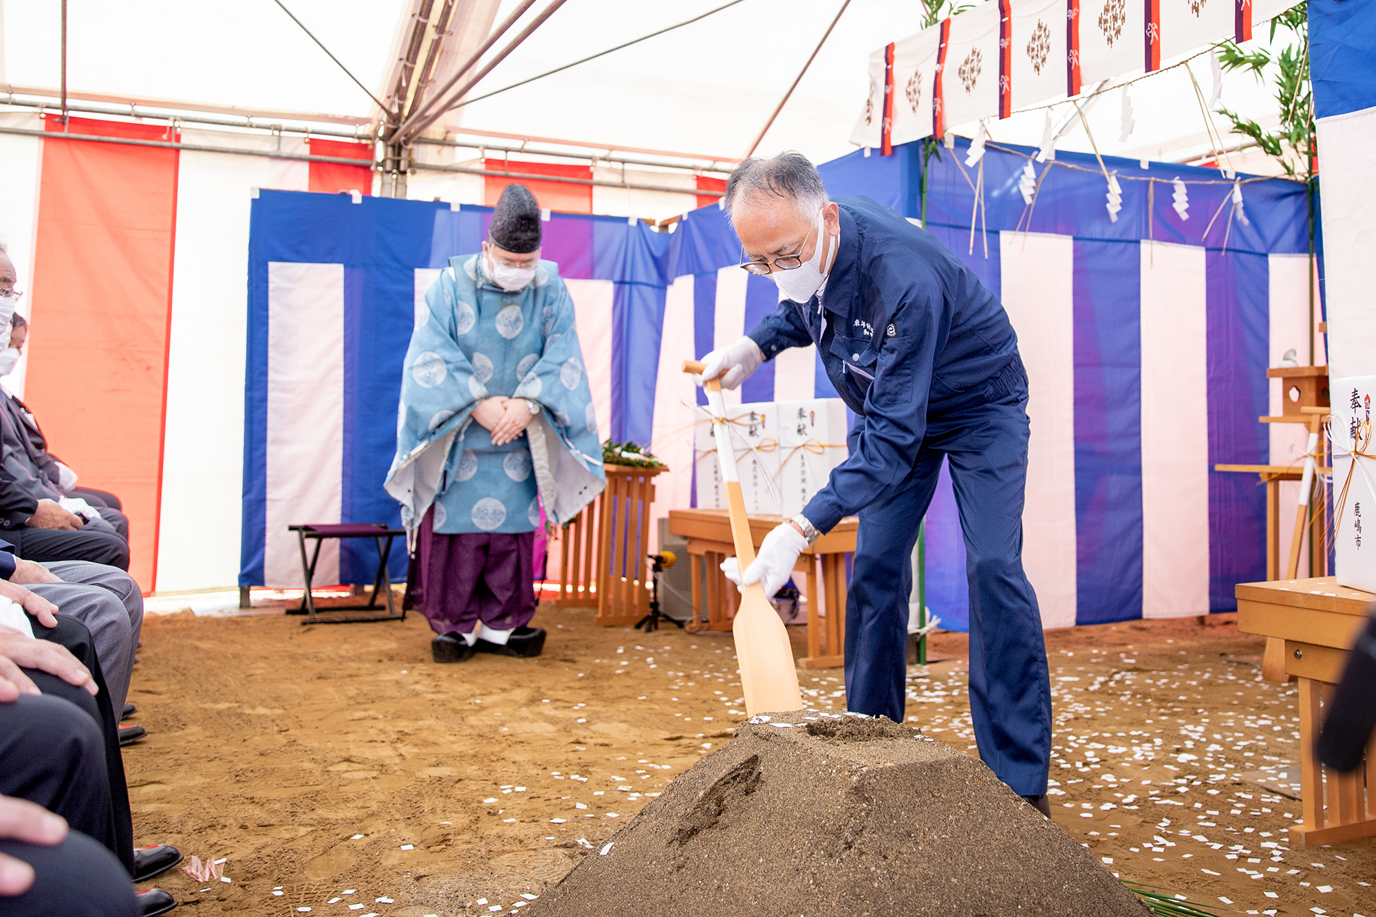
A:
<svg viewBox="0 0 1376 917">
<path fill-rule="evenodd" d="M 197 914 L 488 914 L 539 895 L 744 719 L 729 635 L 592 617 L 542 607 L 542 658 L 447 666 L 417 615 L 147 618 L 135 836 L 227 858 L 231 880 L 154 884 Z M 1227 615 L 1049 632 L 1054 818 L 1123 878 L 1223 913 L 1376 917 L 1376 841 L 1295 848 L 1298 801 L 1238 777 L 1285 772 L 1298 748 L 1295 687 L 1260 680 L 1260 651 Z M 965 637 L 937 635 L 932 657 L 910 723 L 974 755 Z M 799 675 L 809 704 L 845 708 L 839 669 Z"/>
</svg>

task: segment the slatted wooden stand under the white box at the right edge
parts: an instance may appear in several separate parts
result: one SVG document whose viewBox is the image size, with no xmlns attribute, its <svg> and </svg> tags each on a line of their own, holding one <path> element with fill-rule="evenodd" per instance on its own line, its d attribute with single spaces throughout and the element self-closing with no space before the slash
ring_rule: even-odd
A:
<svg viewBox="0 0 1376 917">
<path fill-rule="evenodd" d="M 1376 595 L 1340 587 L 1333 577 L 1237 585 L 1237 629 L 1284 640 L 1285 672 L 1299 680 L 1304 823 L 1291 837 L 1309 847 L 1376 837 L 1376 741 L 1350 774 L 1332 772 L 1314 755 L 1325 706 L 1372 600 Z"/>
</svg>

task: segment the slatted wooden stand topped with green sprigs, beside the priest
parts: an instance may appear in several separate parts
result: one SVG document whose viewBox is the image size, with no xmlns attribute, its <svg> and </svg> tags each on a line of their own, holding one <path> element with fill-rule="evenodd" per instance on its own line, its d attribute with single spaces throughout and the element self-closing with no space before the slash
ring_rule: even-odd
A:
<svg viewBox="0 0 1376 917">
<path fill-rule="evenodd" d="M 604 465 L 607 489 L 597 497 L 597 624 L 636 624 L 649 613 L 649 507 L 654 476 L 669 471 Z"/>
</svg>

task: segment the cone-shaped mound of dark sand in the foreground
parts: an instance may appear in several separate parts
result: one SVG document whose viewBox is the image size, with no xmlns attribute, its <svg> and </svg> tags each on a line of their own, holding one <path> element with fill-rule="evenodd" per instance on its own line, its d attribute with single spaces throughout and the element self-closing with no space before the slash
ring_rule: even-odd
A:
<svg viewBox="0 0 1376 917">
<path fill-rule="evenodd" d="M 883 717 L 799 712 L 743 724 L 527 914 L 1150 911 L 974 757 Z"/>
</svg>

